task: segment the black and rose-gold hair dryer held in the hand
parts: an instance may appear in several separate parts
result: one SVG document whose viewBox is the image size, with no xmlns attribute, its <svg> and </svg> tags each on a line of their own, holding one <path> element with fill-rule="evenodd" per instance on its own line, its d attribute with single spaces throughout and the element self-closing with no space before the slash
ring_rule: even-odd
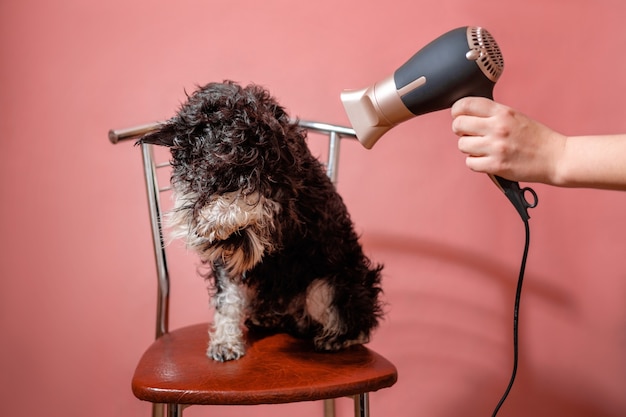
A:
<svg viewBox="0 0 626 417">
<path fill-rule="evenodd" d="M 462 97 L 493 99 L 493 87 L 504 61 L 498 44 L 487 30 L 454 29 L 435 39 L 389 77 L 361 90 L 341 93 L 341 101 L 357 138 L 367 149 L 394 126 L 415 116 L 449 108 Z M 537 205 L 530 188 L 490 175 L 513 203 L 523 220 Z M 524 194 L 533 195 L 532 203 Z"/>
</svg>

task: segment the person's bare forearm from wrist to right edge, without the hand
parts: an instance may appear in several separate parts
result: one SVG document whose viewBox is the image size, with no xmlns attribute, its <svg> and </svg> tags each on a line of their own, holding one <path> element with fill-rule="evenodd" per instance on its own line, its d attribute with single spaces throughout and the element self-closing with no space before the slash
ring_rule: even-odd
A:
<svg viewBox="0 0 626 417">
<path fill-rule="evenodd" d="M 626 190 L 626 134 L 567 138 L 554 185 Z"/>
</svg>

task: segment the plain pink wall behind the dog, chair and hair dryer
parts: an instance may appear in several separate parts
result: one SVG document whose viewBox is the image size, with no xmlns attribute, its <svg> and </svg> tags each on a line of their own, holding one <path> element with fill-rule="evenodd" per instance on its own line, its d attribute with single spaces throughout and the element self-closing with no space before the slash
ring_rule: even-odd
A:
<svg viewBox="0 0 626 417">
<path fill-rule="evenodd" d="M 149 413 L 130 391 L 156 291 L 140 152 L 111 145 L 110 128 L 169 117 L 185 89 L 225 78 L 345 125 L 341 90 L 482 25 L 506 61 L 500 101 L 567 134 L 626 132 L 625 15 L 622 0 L 1 2 L 2 414 Z M 490 415 L 511 372 L 517 213 L 465 168 L 447 111 L 372 151 L 345 144 L 342 164 L 339 189 L 386 264 L 388 314 L 370 346 L 399 381 L 372 395 L 373 415 Z M 521 363 L 500 415 L 624 416 L 626 194 L 535 190 Z M 209 317 L 196 260 L 178 252 L 172 327 Z M 202 411 L 242 410 L 188 414 Z"/>
</svg>

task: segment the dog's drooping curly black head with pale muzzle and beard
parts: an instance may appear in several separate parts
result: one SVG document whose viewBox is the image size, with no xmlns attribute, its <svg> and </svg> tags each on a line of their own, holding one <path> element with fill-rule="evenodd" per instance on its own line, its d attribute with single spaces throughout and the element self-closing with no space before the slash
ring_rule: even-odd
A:
<svg viewBox="0 0 626 417">
<path fill-rule="evenodd" d="M 265 89 L 231 81 L 200 87 L 140 142 L 171 149 L 173 237 L 205 253 L 219 243 L 229 258 L 246 258 L 239 269 L 276 244 L 274 216 L 301 189 L 310 155 L 305 130 Z"/>
</svg>

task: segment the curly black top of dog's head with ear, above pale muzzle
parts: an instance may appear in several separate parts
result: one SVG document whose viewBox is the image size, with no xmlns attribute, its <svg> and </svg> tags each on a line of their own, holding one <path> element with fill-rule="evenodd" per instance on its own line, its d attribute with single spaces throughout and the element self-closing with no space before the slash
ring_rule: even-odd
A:
<svg viewBox="0 0 626 417">
<path fill-rule="evenodd" d="M 140 142 L 170 147 L 174 186 L 200 198 L 233 192 L 270 197 L 275 183 L 288 181 L 305 145 L 304 131 L 265 89 L 232 81 L 200 87 Z"/>
</svg>

